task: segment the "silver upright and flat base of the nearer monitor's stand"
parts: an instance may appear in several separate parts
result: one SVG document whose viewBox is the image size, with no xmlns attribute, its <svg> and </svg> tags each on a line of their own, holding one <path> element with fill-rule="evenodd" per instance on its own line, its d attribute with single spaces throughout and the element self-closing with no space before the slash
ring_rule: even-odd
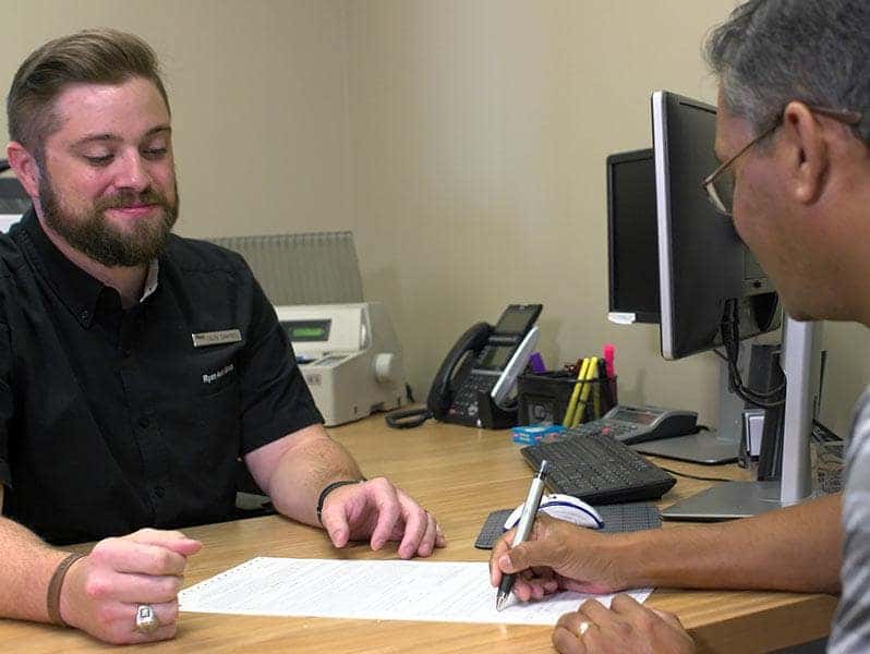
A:
<svg viewBox="0 0 870 654">
<path fill-rule="evenodd" d="M 662 511 L 666 520 L 729 520 L 787 507 L 811 495 L 809 443 L 818 402 L 821 323 L 786 316 L 783 335 L 786 378 L 781 482 L 721 482 Z"/>
</svg>

